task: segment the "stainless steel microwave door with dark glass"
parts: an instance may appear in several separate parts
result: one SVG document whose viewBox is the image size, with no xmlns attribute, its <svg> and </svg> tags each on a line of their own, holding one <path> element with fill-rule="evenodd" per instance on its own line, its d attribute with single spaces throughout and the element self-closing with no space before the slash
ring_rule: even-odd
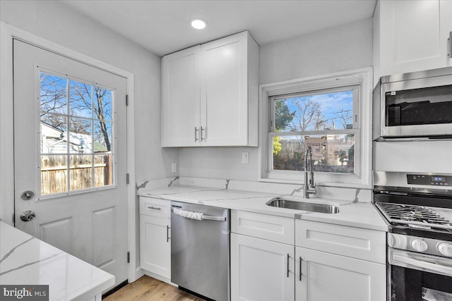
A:
<svg viewBox="0 0 452 301">
<path fill-rule="evenodd" d="M 452 75 L 381 84 L 381 137 L 452 133 Z"/>
</svg>

